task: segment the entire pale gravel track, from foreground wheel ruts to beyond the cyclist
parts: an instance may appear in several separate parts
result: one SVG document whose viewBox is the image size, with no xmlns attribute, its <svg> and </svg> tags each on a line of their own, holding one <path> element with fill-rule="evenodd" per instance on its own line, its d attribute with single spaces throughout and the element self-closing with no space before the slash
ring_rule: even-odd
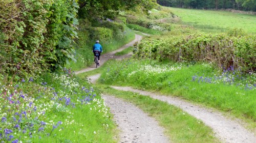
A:
<svg viewBox="0 0 256 143">
<path fill-rule="evenodd" d="M 136 39 L 129 44 L 124 45 L 121 49 L 113 51 L 111 53 L 104 54 L 102 56 L 102 62 L 106 62 L 108 59 L 122 59 L 127 57 L 115 56 L 115 52 L 119 52 L 131 45 L 136 41 L 140 41 L 141 36 L 136 35 Z M 76 74 L 90 71 L 95 69 L 94 65 L 87 69 L 75 72 Z M 92 83 L 96 83 L 96 80 L 100 77 L 100 74 L 90 76 L 89 79 Z M 228 143 L 256 143 L 255 134 L 246 130 L 238 121 L 233 121 L 222 116 L 220 112 L 207 109 L 205 107 L 197 106 L 180 98 L 162 96 L 156 93 L 145 92 L 141 90 L 135 90 L 130 87 L 112 87 L 117 90 L 132 91 L 144 96 L 150 96 L 152 98 L 165 101 L 169 104 L 180 107 L 182 110 L 189 113 L 191 116 L 201 120 L 204 124 L 211 127 L 215 135 L 222 141 Z M 131 103 L 122 101 L 121 99 L 113 96 L 103 95 L 103 98 L 111 108 L 111 112 L 114 114 L 114 120 L 118 124 L 121 130 L 121 142 L 168 142 L 168 139 L 163 136 L 163 129 L 158 126 L 158 123 L 148 117 L 143 111 Z M 150 128 L 150 126 L 153 128 Z"/>
</svg>

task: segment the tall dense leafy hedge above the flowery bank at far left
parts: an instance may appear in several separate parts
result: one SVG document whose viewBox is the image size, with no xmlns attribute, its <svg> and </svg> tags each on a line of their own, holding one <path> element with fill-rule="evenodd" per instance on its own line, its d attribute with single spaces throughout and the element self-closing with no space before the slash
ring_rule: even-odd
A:
<svg viewBox="0 0 256 143">
<path fill-rule="evenodd" d="M 75 1 L 1 0 L 0 7 L 1 74 L 35 76 L 73 58 Z"/>
</svg>

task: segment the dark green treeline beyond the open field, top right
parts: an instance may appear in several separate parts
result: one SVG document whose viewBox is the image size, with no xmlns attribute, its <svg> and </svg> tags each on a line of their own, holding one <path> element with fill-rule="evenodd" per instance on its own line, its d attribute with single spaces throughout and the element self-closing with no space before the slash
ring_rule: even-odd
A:
<svg viewBox="0 0 256 143">
<path fill-rule="evenodd" d="M 158 0 L 158 4 L 167 7 L 193 9 L 236 9 L 256 11 L 255 0 Z"/>
</svg>

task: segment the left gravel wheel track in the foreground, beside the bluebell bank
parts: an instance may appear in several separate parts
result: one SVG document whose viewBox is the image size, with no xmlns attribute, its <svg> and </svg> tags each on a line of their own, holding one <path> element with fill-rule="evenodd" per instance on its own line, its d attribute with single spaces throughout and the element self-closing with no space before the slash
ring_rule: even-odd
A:
<svg viewBox="0 0 256 143">
<path fill-rule="evenodd" d="M 169 142 L 163 135 L 164 129 L 141 109 L 114 96 L 103 95 L 103 98 L 106 106 L 109 106 L 114 114 L 114 120 L 121 131 L 120 142 Z"/>
</svg>

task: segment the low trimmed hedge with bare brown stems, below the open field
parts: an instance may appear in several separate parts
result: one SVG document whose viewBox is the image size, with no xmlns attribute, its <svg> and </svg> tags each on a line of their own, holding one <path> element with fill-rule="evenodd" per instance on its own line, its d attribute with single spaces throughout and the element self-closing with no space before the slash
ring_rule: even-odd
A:
<svg viewBox="0 0 256 143">
<path fill-rule="evenodd" d="M 137 57 L 172 61 L 209 61 L 220 68 L 256 70 L 256 36 L 193 34 L 169 39 L 144 39 L 135 46 Z"/>
</svg>

